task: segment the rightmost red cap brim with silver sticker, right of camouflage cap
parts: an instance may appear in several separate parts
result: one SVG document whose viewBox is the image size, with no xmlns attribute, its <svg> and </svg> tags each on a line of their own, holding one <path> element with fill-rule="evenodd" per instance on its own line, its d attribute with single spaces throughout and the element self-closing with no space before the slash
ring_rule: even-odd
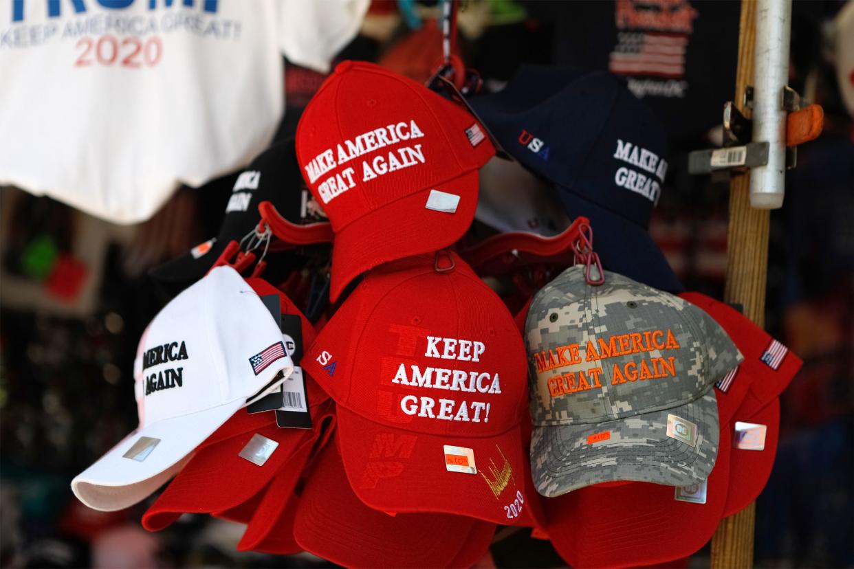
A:
<svg viewBox="0 0 854 569">
<path fill-rule="evenodd" d="M 774 468 L 774 459 L 777 456 L 777 440 L 780 437 L 780 400 L 774 399 L 757 414 L 747 418 L 742 418 L 742 415 L 737 412 L 734 421 L 764 425 L 766 427 L 765 448 L 731 451 L 731 484 L 727 503 L 723 508 L 724 517 L 737 514 L 749 506 L 768 484 L 771 470 Z M 729 435 L 733 436 L 734 422 L 729 427 Z M 733 444 L 733 441 L 723 441 L 722 444 Z"/>
</svg>

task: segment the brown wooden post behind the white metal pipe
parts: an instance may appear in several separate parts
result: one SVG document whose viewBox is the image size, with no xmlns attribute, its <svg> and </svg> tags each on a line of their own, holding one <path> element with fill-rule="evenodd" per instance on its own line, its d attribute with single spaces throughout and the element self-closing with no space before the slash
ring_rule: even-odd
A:
<svg viewBox="0 0 854 569">
<path fill-rule="evenodd" d="M 735 77 L 735 105 L 746 116 L 744 94 L 753 83 L 753 52 L 756 42 L 756 2 L 741 0 L 739 59 Z M 769 210 L 750 204 L 750 174 L 734 174 L 729 187 L 727 231 L 727 282 L 723 297 L 744 307 L 744 314 L 764 326 L 765 285 L 768 270 Z M 721 444 L 729 444 L 721 441 Z M 711 538 L 713 569 L 746 569 L 753 566 L 753 524 L 756 504 L 752 503 L 721 521 Z"/>
</svg>

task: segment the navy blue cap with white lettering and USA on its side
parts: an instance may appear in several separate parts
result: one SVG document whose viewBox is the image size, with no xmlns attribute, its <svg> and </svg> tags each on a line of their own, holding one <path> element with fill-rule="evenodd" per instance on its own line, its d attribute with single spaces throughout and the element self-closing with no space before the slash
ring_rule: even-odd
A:
<svg viewBox="0 0 854 569">
<path fill-rule="evenodd" d="M 683 290 L 647 231 L 667 173 L 667 134 L 617 78 L 523 66 L 504 90 L 469 103 L 507 154 L 554 184 L 570 218 L 590 219 L 605 269 Z"/>
</svg>

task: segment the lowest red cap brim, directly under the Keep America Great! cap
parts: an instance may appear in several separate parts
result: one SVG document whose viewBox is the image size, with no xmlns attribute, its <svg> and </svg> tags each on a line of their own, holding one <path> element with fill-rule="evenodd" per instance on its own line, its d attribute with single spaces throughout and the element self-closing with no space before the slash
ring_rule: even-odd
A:
<svg viewBox="0 0 854 569">
<path fill-rule="evenodd" d="M 488 549 L 494 532 L 494 524 L 465 516 L 389 515 L 368 508 L 350 488 L 335 444 L 320 452 L 294 521 L 303 549 L 348 567 L 444 567 L 455 560 L 468 567 Z"/>
</svg>

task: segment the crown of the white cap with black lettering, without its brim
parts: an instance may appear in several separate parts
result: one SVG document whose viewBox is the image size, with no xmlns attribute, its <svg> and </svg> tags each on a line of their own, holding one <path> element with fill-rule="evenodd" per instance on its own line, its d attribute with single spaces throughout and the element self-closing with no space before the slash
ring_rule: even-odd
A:
<svg viewBox="0 0 854 569">
<path fill-rule="evenodd" d="M 270 312 L 237 271 L 213 269 L 166 305 L 139 341 L 139 426 L 251 397 L 279 369 L 293 368 L 284 356 L 255 374 L 250 358 L 281 341 Z"/>
</svg>

